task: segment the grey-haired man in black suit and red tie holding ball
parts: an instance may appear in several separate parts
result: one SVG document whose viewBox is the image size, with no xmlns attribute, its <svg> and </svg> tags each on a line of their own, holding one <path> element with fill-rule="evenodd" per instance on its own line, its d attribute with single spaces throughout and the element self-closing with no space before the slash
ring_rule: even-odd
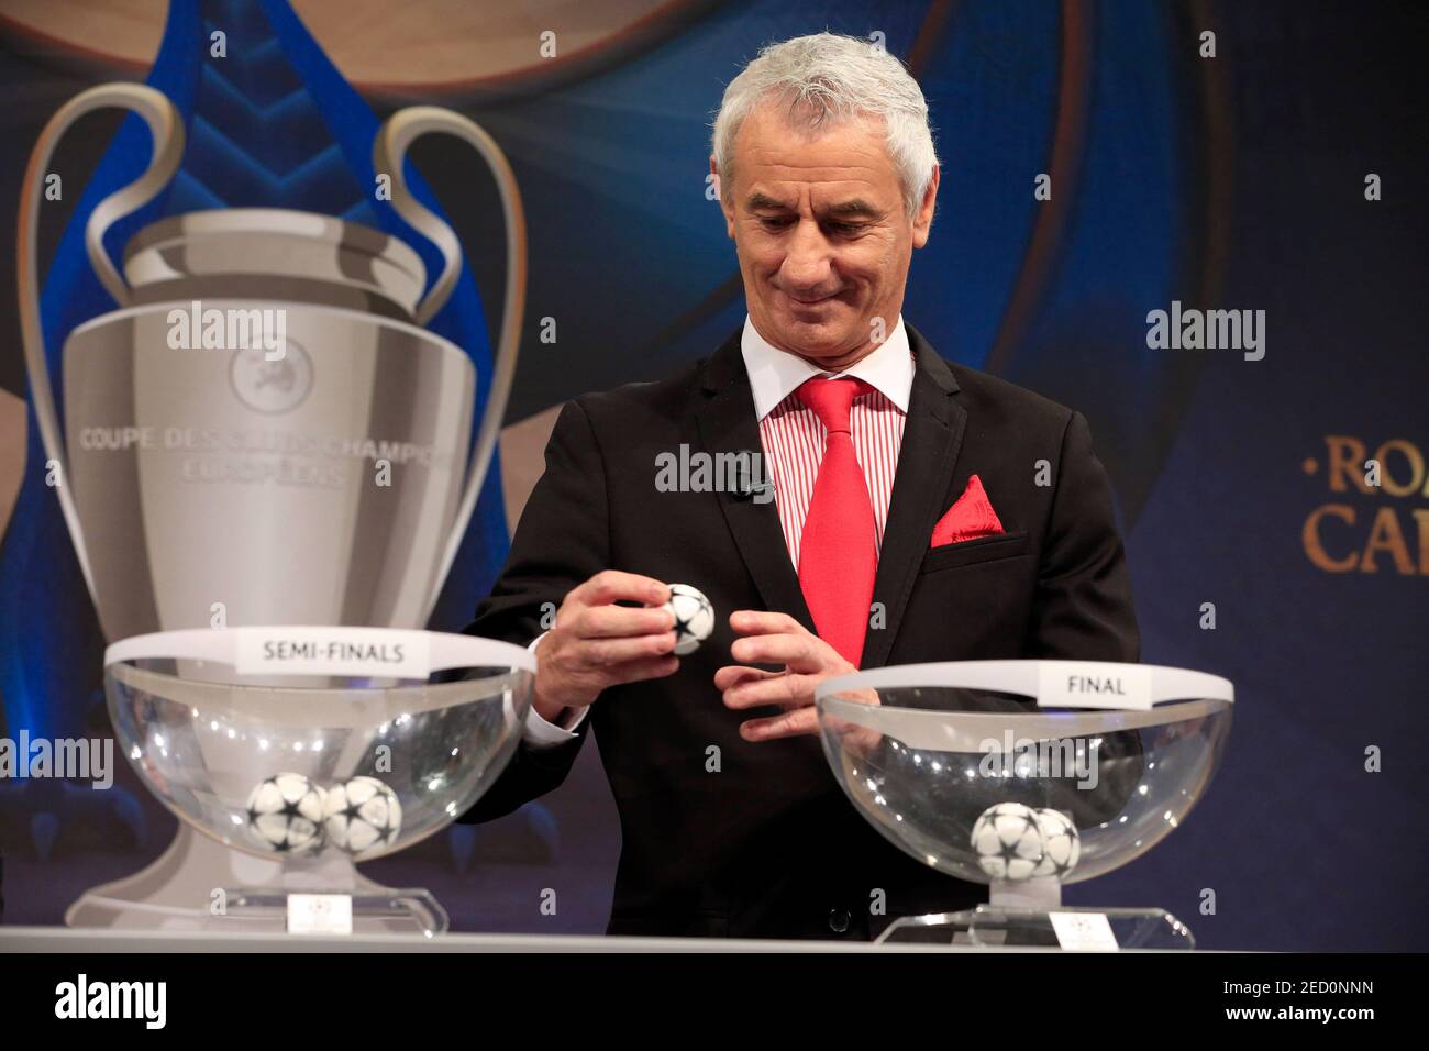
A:
<svg viewBox="0 0 1429 1051">
<path fill-rule="evenodd" d="M 1086 420 L 950 365 L 902 319 L 939 173 L 897 59 L 827 33 L 767 47 L 726 90 L 713 146 L 749 317 L 670 379 L 562 410 L 469 628 L 534 639 L 534 708 L 462 819 L 556 788 L 594 731 L 623 834 L 612 934 L 866 939 L 986 888 L 853 809 L 816 736 L 817 682 L 1135 661 L 1125 558 Z M 773 499 L 657 485 L 662 462 L 700 453 L 753 455 Z M 670 582 L 720 615 L 683 658 Z"/>
</svg>

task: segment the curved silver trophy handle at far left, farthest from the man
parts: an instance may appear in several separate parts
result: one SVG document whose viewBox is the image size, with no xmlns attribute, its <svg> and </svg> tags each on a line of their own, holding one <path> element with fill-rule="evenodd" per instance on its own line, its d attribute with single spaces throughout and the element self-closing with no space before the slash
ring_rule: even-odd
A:
<svg viewBox="0 0 1429 1051">
<path fill-rule="evenodd" d="M 104 233 L 119 219 L 139 210 L 173 179 L 183 157 L 183 120 L 179 110 L 161 93 L 147 84 L 100 84 L 64 103 L 59 112 L 50 117 L 50 123 L 40 132 L 40 139 L 30 153 L 30 163 L 24 170 L 24 180 L 20 184 L 20 214 L 16 222 L 16 286 L 20 297 L 20 336 L 24 345 L 24 367 L 30 378 L 30 393 L 34 399 L 34 416 L 40 425 L 40 440 L 49 459 L 60 465 L 60 483 L 56 493 L 60 498 L 60 510 L 64 513 L 64 523 L 70 529 L 74 541 L 74 553 L 79 556 L 80 569 L 84 573 L 84 583 L 94 596 L 94 581 L 90 575 L 89 555 L 84 548 L 84 535 L 80 531 L 80 519 L 74 510 L 74 500 L 69 490 L 69 463 L 66 460 L 64 442 L 60 435 L 59 413 L 54 406 L 54 392 L 50 388 L 50 370 L 44 357 L 44 329 L 40 320 L 40 266 L 36 249 L 37 230 L 40 224 L 40 202 L 44 199 L 44 177 L 54 154 L 54 147 L 70 126 L 100 109 L 124 109 L 137 113 L 149 124 L 149 134 L 153 137 L 154 150 L 149 159 L 149 167 L 129 186 L 116 190 L 94 206 L 89 222 L 84 226 L 84 250 L 89 255 L 90 266 L 104 289 L 123 307 L 129 303 L 130 292 L 119 269 L 104 252 Z"/>
</svg>

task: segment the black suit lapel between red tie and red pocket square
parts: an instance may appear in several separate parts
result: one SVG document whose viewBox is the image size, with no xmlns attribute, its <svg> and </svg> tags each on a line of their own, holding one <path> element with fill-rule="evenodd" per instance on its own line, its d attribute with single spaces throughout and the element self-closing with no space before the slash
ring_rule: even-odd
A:
<svg viewBox="0 0 1429 1051">
<path fill-rule="evenodd" d="M 886 622 L 883 628 L 869 629 L 862 668 L 880 668 L 893 649 L 917 568 L 933 536 L 933 525 L 946 509 L 947 488 L 967 423 L 967 412 L 952 396 L 957 392 L 957 380 L 947 363 L 912 325 L 905 325 L 916 369 L 873 583 L 873 601 L 883 605 Z"/>
</svg>

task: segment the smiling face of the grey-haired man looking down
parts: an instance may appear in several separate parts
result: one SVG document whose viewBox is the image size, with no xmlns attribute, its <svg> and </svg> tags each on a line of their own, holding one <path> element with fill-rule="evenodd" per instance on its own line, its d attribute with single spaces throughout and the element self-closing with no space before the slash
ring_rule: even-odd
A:
<svg viewBox="0 0 1429 1051">
<path fill-rule="evenodd" d="M 910 220 L 882 120 L 807 130 L 786 123 L 783 109 L 765 103 L 740 126 L 720 206 L 759 333 L 845 369 L 897 322 L 909 259 L 927 243 L 937 170 Z M 710 170 L 719 174 L 713 159 Z"/>
</svg>

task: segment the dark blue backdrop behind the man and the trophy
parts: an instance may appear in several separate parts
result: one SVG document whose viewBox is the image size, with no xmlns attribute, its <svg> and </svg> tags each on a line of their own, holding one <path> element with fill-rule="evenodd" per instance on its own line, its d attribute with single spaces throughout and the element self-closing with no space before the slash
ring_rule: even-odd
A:
<svg viewBox="0 0 1429 1051">
<path fill-rule="evenodd" d="M 219 24 L 243 41 L 221 69 L 200 43 Z M 664 375 L 740 322 L 733 249 L 704 196 L 709 122 L 762 43 L 825 27 L 883 33 L 933 112 L 943 183 L 905 316 L 943 355 L 1086 413 L 1116 485 L 1145 659 L 1238 688 L 1230 752 L 1203 804 L 1155 852 L 1069 898 L 1166 907 L 1209 947 L 1426 948 L 1413 789 L 1429 745 L 1422 7 L 689 4 L 576 73 L 433 90 L 420 100 L 497 139 L 526 199 L 530 300 L 510 420 Z M 1206 31 L 1215 57 L 1202 54 Z M 0 79 L 44 103 L 4 117 L 10 187 L 49 113 L 106 71 L 16 34 L 3 43 Z M 374 110 L 399 100 L 349 87 L 282 0 L 176 0 L 149 80 L 184 112 L 190 146 L 173 189 L 116 229 L 114 246 L 156 214 L 273 203 L 387 229 L 434 260 L 362 190 Z M 459 149 L 419 150 L 429 183 L 413 182 L 470 255 L 433 327 L 480 366 L 503 232 Z M 141 166 L 147 133 L 126 123 L 96 136 L 91 156 L 46 282 L 51 355 L 110 309 L 79 230 Z M 1050 202 L 1033 197 L 1039 173 L 1053 176 Z M 1369 174 L 1382 199 L 1366 199 Z M 1265 310 L 1265 359 L 1147 349 L 1146 315 L 1172 300 Z M 537 339 L 547 316 L 554 345 Z M 23 393 L 14 362 L 0 375 Z M 1389 483 L 1363 492 L 1333 469 L 1333 448 L 1355 442 Z M 97 628 L 33 426 L 29 448 L 3 549 L 4 732 L 101 728 Z M 493 472 L 439 625 L 466 618 L 504 555 L 499 485 Z M 1382 771 L 1366 769 L 1366 749 Z M 0 785 L 10 921 L 53 922 L 80 889 L 167 842 L 171 819 L 126 791 L 126 805 L 96 805 Z M 372 868 L 432 887 L 470 929 L 597 931 L 617 844 L 586 749 L 547 799 Z M 533 907 L 544 887 L 569 888 L 559 917 Z"/>
</svg>

